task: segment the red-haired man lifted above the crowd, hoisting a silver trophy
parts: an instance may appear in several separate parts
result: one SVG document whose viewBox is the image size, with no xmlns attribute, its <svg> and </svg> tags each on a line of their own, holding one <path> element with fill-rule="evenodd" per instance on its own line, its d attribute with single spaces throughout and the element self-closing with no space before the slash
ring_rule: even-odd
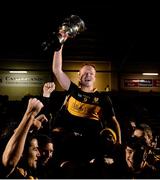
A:
<svg viewBox="0 0 160 180">
<path fill-rule="evenodd" d="M 55 126 L 63 127 L 68 132 L 81 136 L 83 139 L 81 148 L 85 147 L 85 156 L 90 159 L 98 152 L 99 135 L 103 129 L 111 126 L 119 144 L 121 144 L 121 130 L 111 99 L 108 96 L 104 97 L 94 87 L 95 66 L 82 65 L 79 70 L 79 85 L 73 83 L 62 69 L 62 51 L 65 41 L 74 38 L 85 29 L 85 23 L 78 16 L 71 15 L 65 20 L 56 34 L 56 40 L 54 39 L 56 44 L 52 44 L 54 46 L 52 70 L 68 95 L 60 111 L 60 119 L 56 120 Z"/>
</svg>

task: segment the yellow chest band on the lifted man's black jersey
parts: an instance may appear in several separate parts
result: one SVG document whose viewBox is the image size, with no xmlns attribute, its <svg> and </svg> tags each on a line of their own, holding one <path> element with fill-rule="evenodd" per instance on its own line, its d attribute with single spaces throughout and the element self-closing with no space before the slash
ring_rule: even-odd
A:
<svg viewBox="0 0 160 180">
<path fill-rule="evenodd" d="M 101 115 L 101 107 L 94 104 L 80 102 L 70 97 L 67 104 L 67 110 L 74 116 L 84 117 L 88 119 L 99 120 Z"/>
</svg>

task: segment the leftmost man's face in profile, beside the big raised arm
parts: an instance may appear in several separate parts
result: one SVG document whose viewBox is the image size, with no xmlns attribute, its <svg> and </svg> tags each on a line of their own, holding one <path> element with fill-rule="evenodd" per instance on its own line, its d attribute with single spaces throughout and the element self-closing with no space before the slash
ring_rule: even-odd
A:
<svg viewBox="0 0 160 180">
<path fill-rule="evenodd" d="M 37 139 L 32 139 L 30 142 L 30 147 L 28 150 L 28 165 L 31 168 L 37 168 L 37 161 L 40 156 L 40 152 L 38 150 L 38 141 Z"/>
</svg>

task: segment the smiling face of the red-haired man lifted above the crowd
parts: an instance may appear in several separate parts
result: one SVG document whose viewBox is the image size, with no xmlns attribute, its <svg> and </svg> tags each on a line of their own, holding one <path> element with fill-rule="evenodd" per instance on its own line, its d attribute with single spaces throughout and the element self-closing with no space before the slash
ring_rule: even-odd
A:
<svg viewBox="0 0 160 180">
<path fill-rule="evenodd" d="M 94 67 L 86 65 L 80 69 L 79 78 L 82 86 L 90 87 L 95 82 L 96 71 Z"/>
</svg>

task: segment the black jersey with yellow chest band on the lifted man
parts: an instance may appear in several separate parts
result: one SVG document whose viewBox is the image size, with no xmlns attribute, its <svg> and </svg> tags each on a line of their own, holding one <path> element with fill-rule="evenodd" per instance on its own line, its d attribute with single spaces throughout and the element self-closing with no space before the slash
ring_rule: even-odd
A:
<svg viewBox="0 0 160 180">
<path fill-rule="evenodd" d="M 78 133 L 99 133 L 104 128 L 104 120 L 114 116 L 108 96 L 95 91 L 87 93 L 71 82 L 66 102 L 56 124 Z"/>
</svg>

